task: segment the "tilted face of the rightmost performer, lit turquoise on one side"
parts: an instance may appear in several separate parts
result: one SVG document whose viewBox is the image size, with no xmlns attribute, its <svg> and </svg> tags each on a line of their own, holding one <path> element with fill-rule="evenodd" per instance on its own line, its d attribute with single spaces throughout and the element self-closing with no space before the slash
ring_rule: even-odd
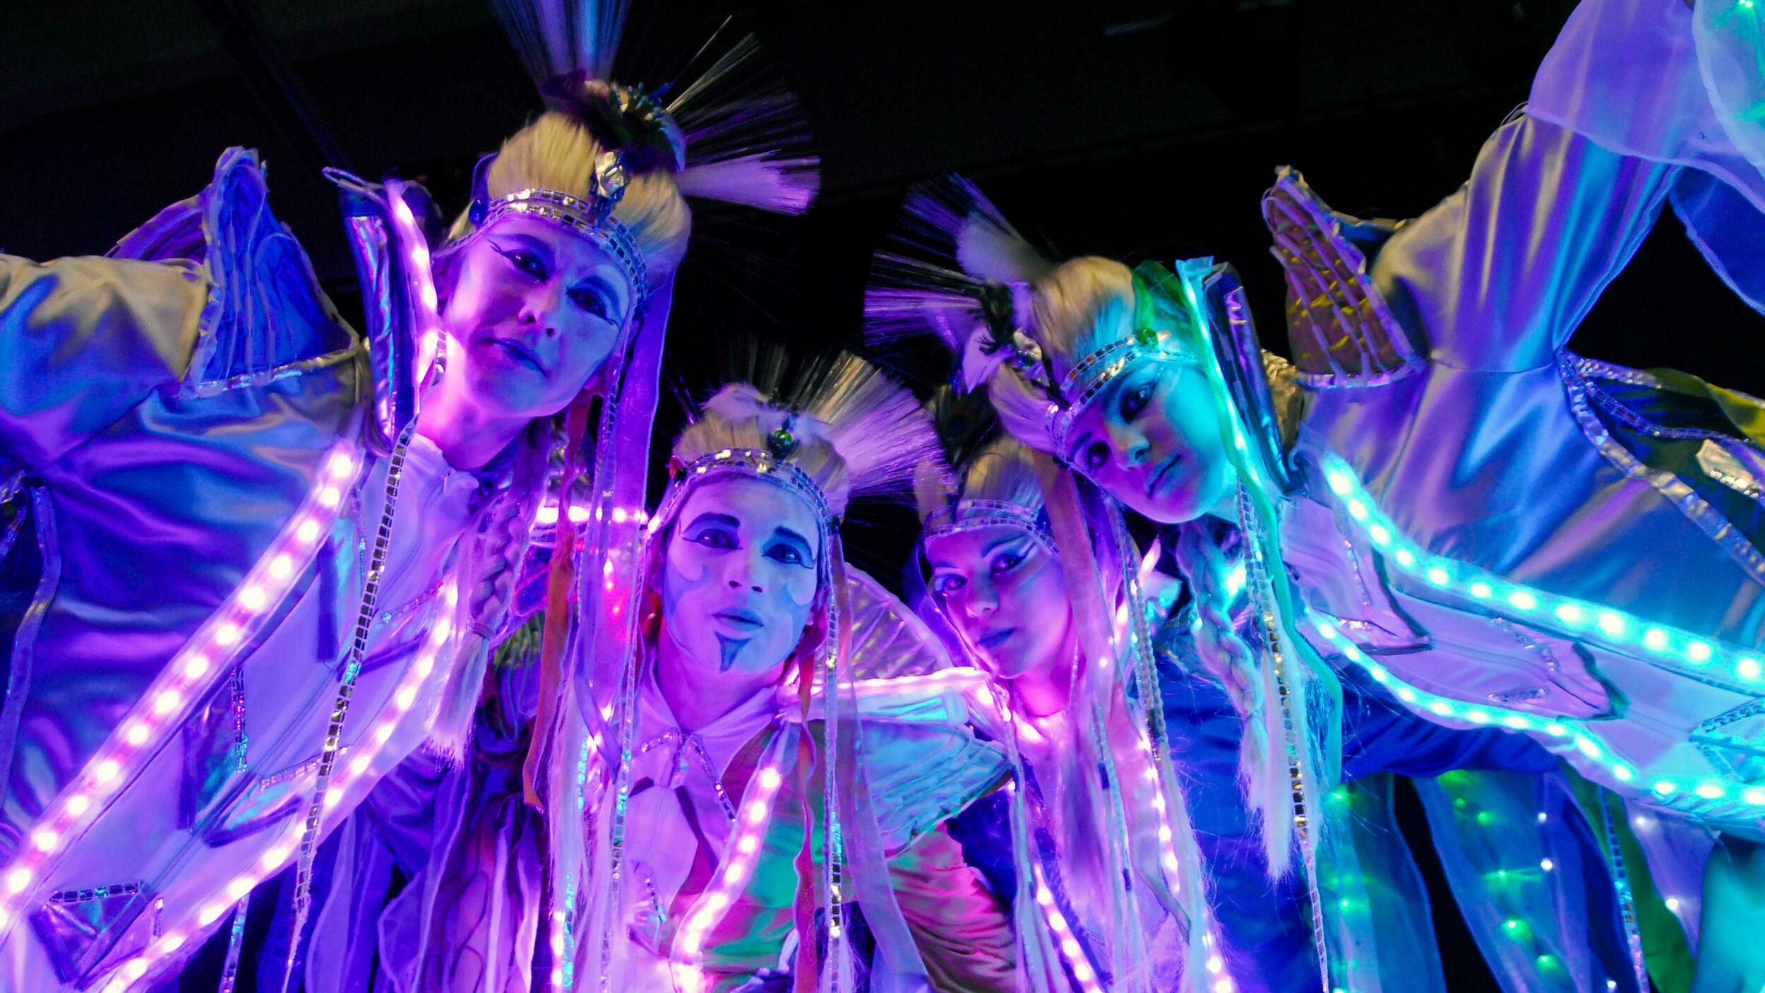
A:
<svg viewBox="0 0 1765 993">
<path fill-rule="evenodd" d="M 1073 419 L 1068 443 L 1070 465 L 1167 525 L 1211 511 L 1234 479 L 1207 373 L 1174 359 L 1123 369 Z"/>
</svg>

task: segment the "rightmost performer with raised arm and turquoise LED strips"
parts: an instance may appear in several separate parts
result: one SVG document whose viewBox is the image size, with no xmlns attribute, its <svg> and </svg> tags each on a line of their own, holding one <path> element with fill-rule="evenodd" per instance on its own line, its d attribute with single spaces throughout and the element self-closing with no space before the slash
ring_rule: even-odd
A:
<svg viewBox="0 0 1765 993">
<path fill-rule="evenodd" d="M 1271 641 L 1227 682 L 1260 696 L 1313 806 L 1336 671 L 1446 726 L 1525 733 L 1597 785 L 1576 781 L 1574 806 L 1626 926 L 1631 974 L 1606 979 L 1634 988 L 1687 988 L 1680 942 L 1693 989 L 1765 982 L 1765 421 L 1753 398 L 1566 345 L 1668 200 L 1758 306 L 1761 44 L 1744 2 L 1588 2 L 1428 214 L 1338 216 L 1281 171 L 1264 208 L 1290 288 L 1285 419 L 1207 260 L 1038 276 L 1031 336 L 992 378 L 1013 435 L 1179 544 L 1236 523 Z M 1276 832 L 1292 820 L 1285 783 L 1253 802 Z M 1467 850 L 1490 869 L 1513 853 L 1500 871 L 1550 871 L 1530 845 Z M 1507 954 L 1590 984 L 1550 944 L 1581 926 L 1518 917 Z"/>
</svg>

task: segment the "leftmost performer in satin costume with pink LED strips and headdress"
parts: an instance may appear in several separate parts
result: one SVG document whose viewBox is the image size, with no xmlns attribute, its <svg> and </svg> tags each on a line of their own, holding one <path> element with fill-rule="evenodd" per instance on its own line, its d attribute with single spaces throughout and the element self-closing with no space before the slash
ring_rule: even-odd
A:
<svg viewBox="0 0 1765 993">
<path fill-rule="evenodd" d="M 161 982 L 289 864 L 298 945 L 325 832 L 459 754 L 560 421 L 648 422 L 690 226 L 680 129 L 568 51 L 434 272 L 420 191 L 341 177 L 365 339 L 242 150 L 111 258 L 0 260 L 0 984 Z"/>
</svg>

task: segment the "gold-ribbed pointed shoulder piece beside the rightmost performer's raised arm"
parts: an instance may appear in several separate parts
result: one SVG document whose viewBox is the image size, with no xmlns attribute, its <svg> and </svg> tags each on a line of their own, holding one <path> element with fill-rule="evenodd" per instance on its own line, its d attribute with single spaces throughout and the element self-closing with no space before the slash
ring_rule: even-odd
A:
<svg viewBox="0 0 1765 993">
<path fill-rule="evenodd" d="M 1287 334 L 1301 385 L 1380 385 L 1424 366 L 1366 265 L 1366 251 L 1394 223 L 1336 214 L 1287 166 L 1262 196 L 1262 217 L 1287 270 Z"/>
</svg>

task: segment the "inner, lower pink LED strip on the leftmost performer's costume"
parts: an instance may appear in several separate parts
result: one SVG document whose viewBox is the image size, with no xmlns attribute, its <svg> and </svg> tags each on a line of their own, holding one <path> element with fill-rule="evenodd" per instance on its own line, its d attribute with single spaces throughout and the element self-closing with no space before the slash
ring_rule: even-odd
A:
<svg viewBox="0 0 1765 993">
<path fill-rule="evenodd" d="M 441 650 L 447 648 L 448 638 L 454 634 L 454 606 L 459 603 L 459 592 L 454 583 L 448 581 L 441 588 L 441 618 L 436 620 L 434 627 L 429 629 L 429 638 L 424 641 L 422 652 L 404 670 L 404 678 L 399 680 L 397 691 L 394 691 L 392 700 L 381 709 L 381 717 L 374 724 L 374 730 L 358 740 L 349 749 L 349 763 L 342 767 L 341 772 L 332 779 L 328 790 L 325 790 L 325 807 L 335 809 L 342 804 L 349 790 L 364 781 L 369 786 L 376 779 L 367 776 L 367 770 L 374 765 L 374 758 L 379 756 L 387 742 L 392 740 L 392 733 L 402 723 L 411 707 L 422 696 L 424 684 L 436 671 L 436 659 Z M 390 709 L 390 714 L 387 712 Z M 191 926 L 187 921 L 178 922 L 162 938 L 146 947 L 139 956 L 122 963 L 122 966 L 111 975 L 111 981 L 104 984 L 102 993 L 125 993 L 155 966 L 166 961 L 168 956 L 175 954 L 185 944 L 201 936 L 201 931 L 219 921 L 228 910 L 233 908 L 247 892 L 258 887 L 263 880 L 268 880 L 282 871 L 288 860 L 300 850 L 300 834 L 304 822 L 295 818 L 293 823 L 282 829 L 277 843 L 263 853 L 256 866 L 238 875 L 222 891 L 215 892 L 201 910 L 196 913 L 196 924 Z"/>
</svg>

